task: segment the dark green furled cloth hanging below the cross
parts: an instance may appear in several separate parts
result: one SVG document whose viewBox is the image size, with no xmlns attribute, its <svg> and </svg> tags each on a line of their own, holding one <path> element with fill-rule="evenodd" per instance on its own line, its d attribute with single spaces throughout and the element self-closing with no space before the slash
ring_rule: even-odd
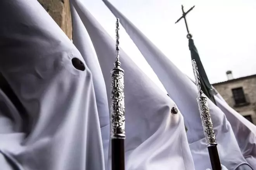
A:
<svg viewBox="0 0 256 170">
<path fill-rule="evenodd" d="M 200 60 L 200 57 L 195 47 L 193 39 L 189 39 L 189 50 L 191 53 L 191 59 L 194 59 L 197 64 L 202 91 L 211 101 L 213 101 L 214 104 L 216 104 L 214 99 L 214 94 L 213 94 L 214 89 L 208 80 L 208 77 L 206 75 L 202 62 Z"/>
</svg>

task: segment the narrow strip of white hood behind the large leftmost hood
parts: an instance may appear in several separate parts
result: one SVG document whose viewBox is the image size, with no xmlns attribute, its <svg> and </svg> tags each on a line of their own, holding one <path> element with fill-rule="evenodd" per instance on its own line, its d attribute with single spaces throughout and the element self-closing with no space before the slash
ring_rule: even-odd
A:
<svg viewBox="0 0 256 170">
<path fill-rule="evenodd" d="M 83 25 L 83 22 L 81 21 L 79 15 L 77 14 L 76 10 L 72 5 L 70 5 L 70 9 L 72 17 L 73 44 L 80 51 L 86 65 L 92 73 L 93 87 L 95 90 L 95 97 L 100 120 L 100 130 L 104 149 L 105 169 L 107 169 L 110 127 L 106 85 L 101 72 L 99 61 L 97 59 L 90 37 L 85 29 L 85 26 Z"/>
</svg>

